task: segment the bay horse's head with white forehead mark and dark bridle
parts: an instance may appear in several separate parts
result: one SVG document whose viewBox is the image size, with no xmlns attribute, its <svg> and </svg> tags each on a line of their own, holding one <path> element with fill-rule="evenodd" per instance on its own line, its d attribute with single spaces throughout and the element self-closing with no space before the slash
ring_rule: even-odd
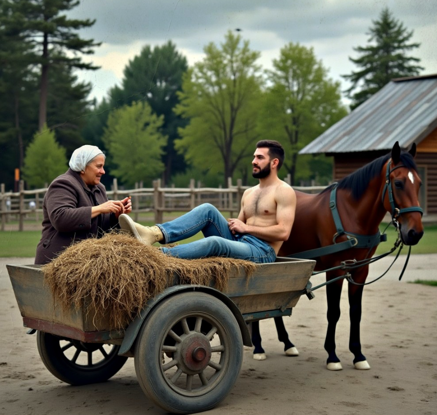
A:
<svg viewBox="0 0 437 415">
<path fill-rule="evenodd" d="M 396 142 L 391 159 L 386 164 L 386 186 L 383 192 L 384 207 L 390 212 L 393 223 L 399 227 L 402 242 L 415 245 L 423 235 L 422 209 L 418 194 L 422 184 L 417 174 L 414 157 L 416 145 L 401 152 Z"/>
</svg>

